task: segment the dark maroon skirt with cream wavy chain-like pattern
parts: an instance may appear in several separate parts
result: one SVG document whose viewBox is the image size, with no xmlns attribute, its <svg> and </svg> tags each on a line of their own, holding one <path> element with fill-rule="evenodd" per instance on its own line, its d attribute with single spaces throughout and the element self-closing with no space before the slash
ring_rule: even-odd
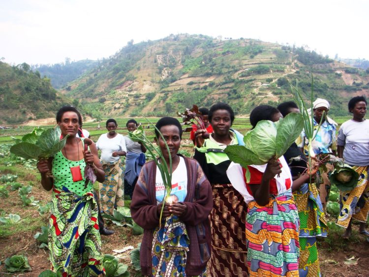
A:
<svg viewBox="0 0 369 277">
<path fill-rule="evenodd" d="M 246 203 L 230 184 L 212 185 L 212 256 L 209 276 L 247 276 Z"/>
</svg>

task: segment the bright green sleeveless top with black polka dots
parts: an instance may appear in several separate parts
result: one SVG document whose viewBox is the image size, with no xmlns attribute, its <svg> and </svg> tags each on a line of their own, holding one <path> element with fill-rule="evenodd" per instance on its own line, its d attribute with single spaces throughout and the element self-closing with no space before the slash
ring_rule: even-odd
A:
<svg viewBox="0 0 369 277">
<path fill-rule="evenodd" d="M 69 162 L 69 163 L 68 163 Z M 72 174 L 70 172 L 70 167 L 73 166 L 80 166 L 81 168 L 81 174 L 82 174 L 82 181 L 73 182 Z M 85 188 L 85 178 L 84 178 L 84 172 L 86 163 L 84 159 L 81 159 L 80 161 L 72 161 L 66 159 L 62 151 L 59 151 L 53 158 L 52 162 L 52 173 L 54 176 L 54 187 L 56 189 L 62 189 L 63 186 L 68 188 L 70 191 L 76 193 L 79 196 L 84 195 L 86 192 L 92 191 L 92 184 L 89 182 L 87 185 L 87 188 Z"/>
</svg>

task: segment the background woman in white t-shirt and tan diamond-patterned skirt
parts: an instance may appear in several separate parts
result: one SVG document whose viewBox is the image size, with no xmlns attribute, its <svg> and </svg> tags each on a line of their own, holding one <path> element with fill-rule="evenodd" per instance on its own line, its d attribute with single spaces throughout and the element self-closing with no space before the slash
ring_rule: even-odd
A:
<svg viewBox="0 0 369 277">
<path fill-rule="evenodd" d="M 123 135 L 116 132 L 118 127 L 114 119 L 106 121 L 108 133 L 102 134 L 96 142 L 101 151 L 101 163 L 105 172 L 105 181 L 100 184 L 100 208 L 102 212 L 113 214 L 116 207 L 124 206 L 123 162 L 125 156 L 125 140 Z"/>
</svg>

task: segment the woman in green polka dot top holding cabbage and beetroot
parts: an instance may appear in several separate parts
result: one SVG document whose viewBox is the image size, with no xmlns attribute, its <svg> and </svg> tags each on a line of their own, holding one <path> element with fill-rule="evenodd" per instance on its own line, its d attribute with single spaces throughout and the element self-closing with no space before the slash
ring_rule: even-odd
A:
<svg viewBox="0 0 369 277">
<path fill-rule="evenodd" d="M 62 107 L 56 116 L 66 139 L 65 147 L 37 168 L 41 185 L 53 190 L 49 219 L 49 250 L 52 270 L 62 276 L 99 276 L 102 266 L 101 239 L 98 231 L 97 205 L 91 182 L 85 182 L 84 169 L 91 164 L 97 181 L 104 181 L 104 171 L 92 143 L 85 151 L 84 139 L 77 138 L 82 117 L 72 106 Z M 49 172 L 52 172 L 50 177 Z M 87 185 L 85 185 L 87 183 Z"/>
</svg>

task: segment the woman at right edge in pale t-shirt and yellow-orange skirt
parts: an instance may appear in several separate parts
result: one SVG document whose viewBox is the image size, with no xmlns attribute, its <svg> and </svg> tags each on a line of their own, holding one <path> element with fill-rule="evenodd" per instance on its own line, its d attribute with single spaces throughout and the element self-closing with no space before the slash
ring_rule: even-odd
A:
<svg viewBox="0 0 369 277">
<path fill-rule="evenodd" d="M 342 123 L 338 131 L 338 157 L 359 173 L 358 185 L 350 191 L 340 192 L 341 211 L 337 224 L 345 227 L 343 238 L 351 235 L 351 219 L 360 221 L 359 231 L 369 236 L 365 229 L 369 213 L 369 121 L 366 120 L 367 100 L 363 96 L 351 98 L 348 110 L 353 118 Z"/>
</svg>

